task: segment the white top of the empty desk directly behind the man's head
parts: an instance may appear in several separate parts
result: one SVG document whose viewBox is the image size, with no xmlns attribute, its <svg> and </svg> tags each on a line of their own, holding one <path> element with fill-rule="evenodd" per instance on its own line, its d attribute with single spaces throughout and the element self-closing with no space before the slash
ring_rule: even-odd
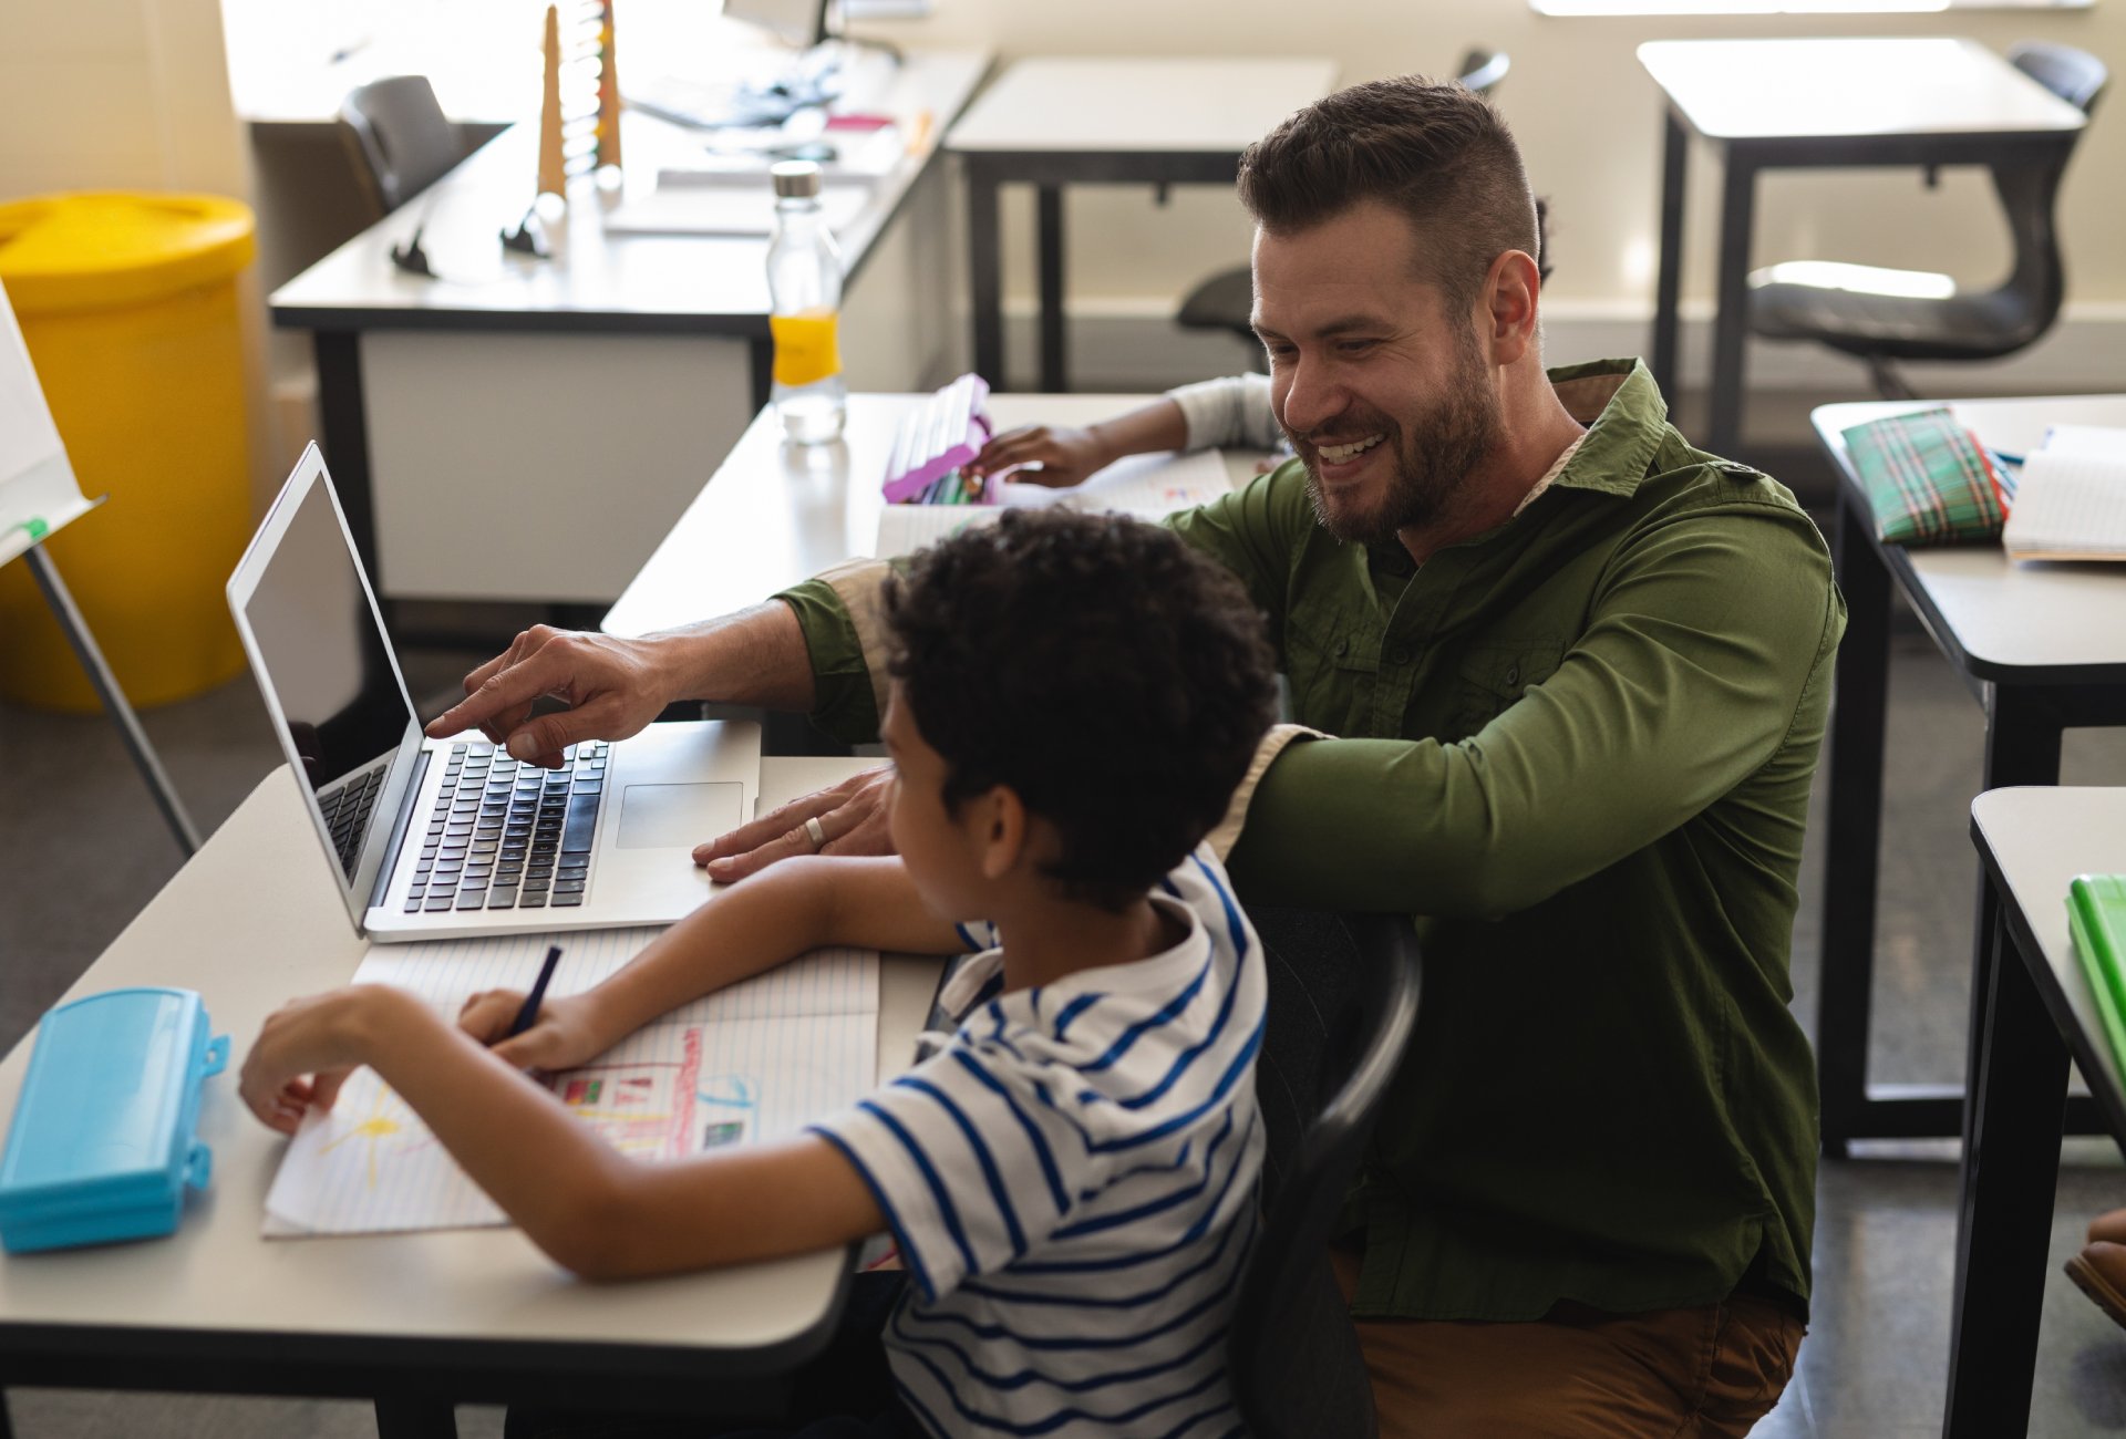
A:
<svg viewBox="0 0 2126 1439">
<path fill-rule="evenodd" d="M 1233 153 L 1335 85 L 1333 60 L 1020 60 L 952 125 L 955 151 Z"/>
</svg>

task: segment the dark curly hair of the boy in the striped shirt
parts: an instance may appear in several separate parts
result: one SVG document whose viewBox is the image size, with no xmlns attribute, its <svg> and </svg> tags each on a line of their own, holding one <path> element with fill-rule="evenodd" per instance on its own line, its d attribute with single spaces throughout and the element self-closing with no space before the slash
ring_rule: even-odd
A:
<svg viewBox="0 0 2126 1439">
<path fill-rule="evenodd" d="M 1114 514 L 1010 510 L 887 585 L 889 672 L 944 759 L 1048 820 L 1048 874 L 1120 910 L 1225 816 L 1276 718 L 1263 619 L 1231 572 Z"/>
</svg>

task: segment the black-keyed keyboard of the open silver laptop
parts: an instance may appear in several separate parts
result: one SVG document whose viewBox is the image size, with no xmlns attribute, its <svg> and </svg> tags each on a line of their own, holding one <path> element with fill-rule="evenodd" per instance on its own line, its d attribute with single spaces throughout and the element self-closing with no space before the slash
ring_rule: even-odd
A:
<svg viewBox="0 0 2126 1439">
<path fill-rule="evenodd" d="M 540 769 L 493 744 L 453 744 L 406 914 L 580 905 L 610 748 L 591 740 Z"/>
</svg>

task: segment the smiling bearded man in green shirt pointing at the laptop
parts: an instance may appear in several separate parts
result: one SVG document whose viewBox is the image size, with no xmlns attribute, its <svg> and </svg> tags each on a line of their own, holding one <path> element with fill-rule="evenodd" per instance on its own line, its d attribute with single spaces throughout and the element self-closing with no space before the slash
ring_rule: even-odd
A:
<svg viewBox="0 0 2126 1439">
<path fill-rule="evenodd" d="M 1382 1428 L 1748 1433 L 1809 1294 L 1816 1090 L 1786 1003 L 1843 629 L 1822 538 L 1690 448 L 1641 366 L 1543 372 L 1535 206 L 1467 91 L 1331 96 L 1248 151 L 1239 193 L 1297 459 L 1174 527 L 1269 614 L 1295 716 L 1344 735 L 1265 744 L 1242 893 L 1424 933 L 1339 1258 Z M 867 735 L 876 570 L 642 642 L 532 631 L 436 729 L 551 759 L 699 695 Z M 576 710 L 527 721 L 542 693 Z M 874 816 L 846 786 L 699 859 L 863 850 Z"/>
</svg>

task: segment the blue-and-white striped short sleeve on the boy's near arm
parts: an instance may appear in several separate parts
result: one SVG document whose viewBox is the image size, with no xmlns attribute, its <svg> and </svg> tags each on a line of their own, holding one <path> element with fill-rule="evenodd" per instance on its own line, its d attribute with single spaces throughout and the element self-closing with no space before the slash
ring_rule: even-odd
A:
<svg viewBox="0 0 2126 1439">
<path fill-rule="evenodd" d="M 1114 1158 L 1091 1148 L 1078 1099 L 1050 1088 L 1010 1035 L 944 1052 L 812 1124 L 863 1173 L 925 1299 L 993 1273 L 1067 1222 Z"/>
</svg>

